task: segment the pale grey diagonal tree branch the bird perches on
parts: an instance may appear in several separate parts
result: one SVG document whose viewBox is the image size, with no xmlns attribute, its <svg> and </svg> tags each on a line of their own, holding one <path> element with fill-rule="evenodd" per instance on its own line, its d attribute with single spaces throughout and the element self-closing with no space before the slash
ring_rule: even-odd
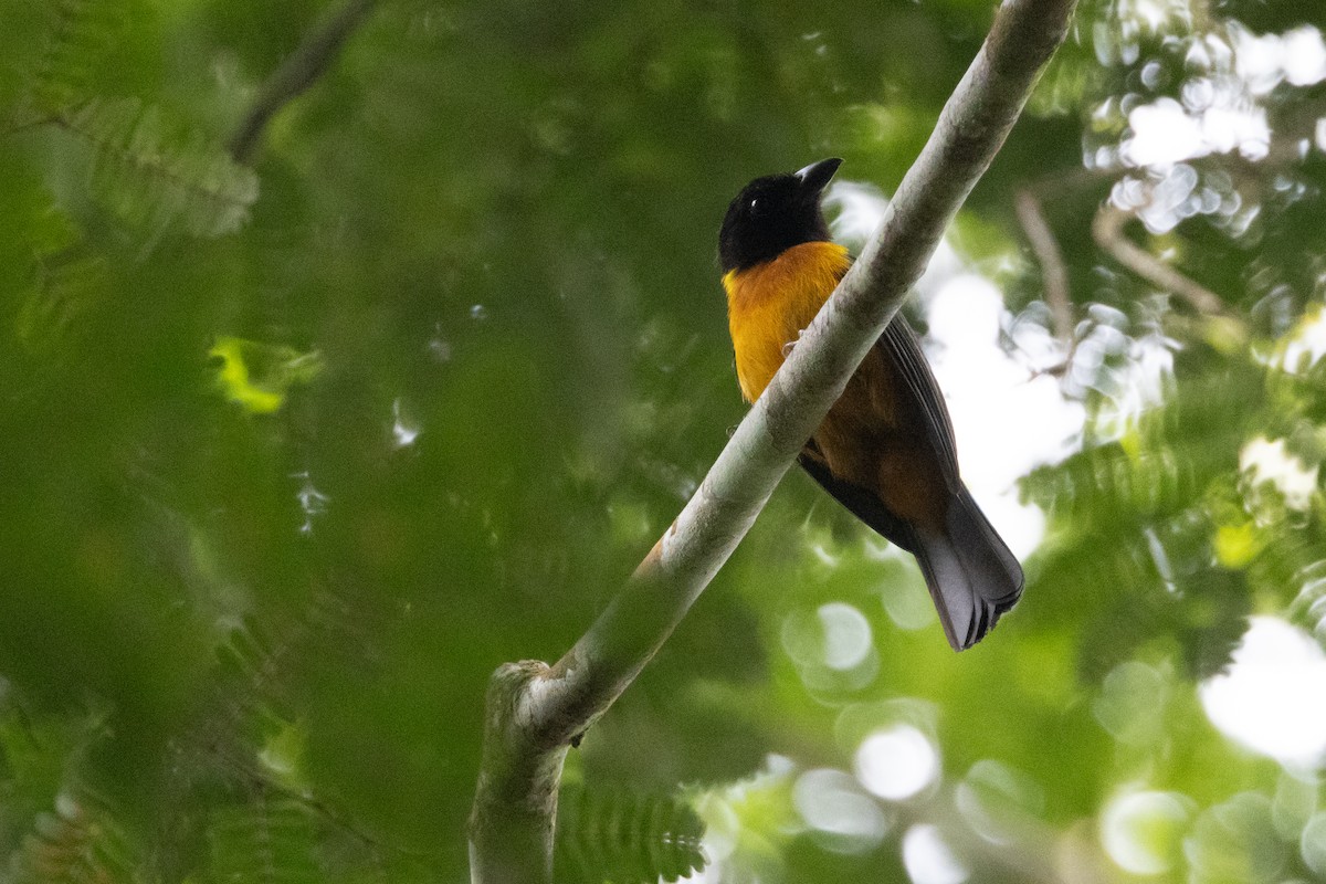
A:
<svg viewBox="0 0 1326 884">
<path fill-rule="evenodd" d="M 566 746 L 671 635 L 898 313 L 1062 42 L 1074 3 L 1004 3 L 879 231 L 672 526 L 566 656 L 493 676 L 469 822 L 475 884 L 549 880 Z"/>
</svg>

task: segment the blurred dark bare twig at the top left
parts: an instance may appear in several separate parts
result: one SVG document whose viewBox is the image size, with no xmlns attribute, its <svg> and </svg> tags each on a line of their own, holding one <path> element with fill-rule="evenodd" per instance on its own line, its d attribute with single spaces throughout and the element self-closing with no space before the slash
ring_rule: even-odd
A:
<svg viewBox="0 0 1326 884">
<path fill-rule="evenodd" d="M 377 0 L 349 0 L 325 25 L 309 32 L 294 52 L 259 89 L 257 98 L 231 135 L 229 151 L 236 163 L 248 163 L 268 122 L 321 77 L 350 33 L 373 11 Z"/>
</svg>

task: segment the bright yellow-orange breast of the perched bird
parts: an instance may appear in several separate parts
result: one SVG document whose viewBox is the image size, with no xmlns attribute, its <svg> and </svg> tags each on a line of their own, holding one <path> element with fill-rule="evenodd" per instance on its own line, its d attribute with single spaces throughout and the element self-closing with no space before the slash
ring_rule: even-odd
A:
<svg viewBox="0 0 1326 884">
<path fill-rule="evenodd" d="M 841 245 L 802 243 L 772 261 L 724 274 L 737 380 L 747 402 L 769 386 L 788 345 L 815 318 L 850 265 Z"/>
</svg>

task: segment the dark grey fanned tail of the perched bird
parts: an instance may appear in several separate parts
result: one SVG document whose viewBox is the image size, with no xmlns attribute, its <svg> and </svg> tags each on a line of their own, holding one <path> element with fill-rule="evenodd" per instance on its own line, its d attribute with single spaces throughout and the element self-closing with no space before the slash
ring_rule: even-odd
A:
<svg viewBox="0 0 1326 884">
<path fill-rule="evenodd" d="M 943 533 L 914 526 L 912 537 L 944 635 L 965 651 L 1022 595 L 1022 569 L 965 488 L 948 508 Z"/>
</svg>

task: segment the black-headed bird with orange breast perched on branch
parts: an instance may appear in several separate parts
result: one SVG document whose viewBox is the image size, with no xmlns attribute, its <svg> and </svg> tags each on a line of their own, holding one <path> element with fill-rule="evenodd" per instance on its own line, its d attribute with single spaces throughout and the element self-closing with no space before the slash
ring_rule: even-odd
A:
<svg viewBox="0 0 1326 884">
<path fill-rule="evenodd" d="M 821 207 L 839 158 L 747 184 L 719 231 L 741 396 L 753 403 L 851 266 Z M 899 313 L 802 448 L 801 467 L 920 566 L 955 651 L 980 641 L 1022 594 L 1017 558 L 957 469 L 953 425 Z"/>
</svg>

